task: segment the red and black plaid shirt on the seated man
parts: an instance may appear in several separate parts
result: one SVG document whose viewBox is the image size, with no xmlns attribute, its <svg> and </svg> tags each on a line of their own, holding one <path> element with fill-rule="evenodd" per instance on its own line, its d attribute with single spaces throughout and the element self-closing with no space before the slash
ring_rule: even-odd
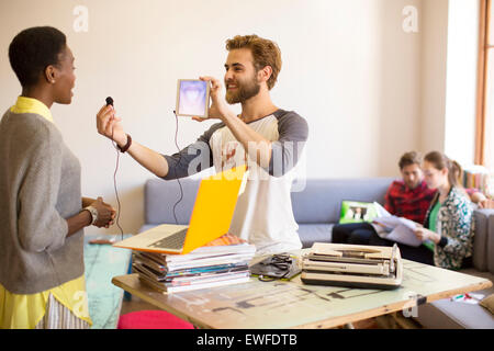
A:
<svg viewBox="0 0 494 351">
<path fill-rule="evenodd" d="M 435 194 L 436 190 L 428 189 L 425 181 L 409 189 L 403 180 L 395 180 L 388 189 L 384 208 L 392 215 L 423 224 Z"/>
</svg>

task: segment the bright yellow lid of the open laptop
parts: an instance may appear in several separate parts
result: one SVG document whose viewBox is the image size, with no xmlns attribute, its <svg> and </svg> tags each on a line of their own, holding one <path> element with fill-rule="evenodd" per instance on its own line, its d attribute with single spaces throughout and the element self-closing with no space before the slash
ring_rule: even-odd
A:
<svg viewBox="0 0 494 351">
<path fill-rule="evenodd" d="M 243 165 L 201 180 L 182 254 L 228 233 L 246 169 Z"/>
</svg>

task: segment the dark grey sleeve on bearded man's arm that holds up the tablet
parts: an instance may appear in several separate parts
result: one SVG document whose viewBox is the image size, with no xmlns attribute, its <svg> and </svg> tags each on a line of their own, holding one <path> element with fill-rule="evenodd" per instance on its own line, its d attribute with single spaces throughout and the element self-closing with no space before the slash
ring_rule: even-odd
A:
<svg viewBox="0 0 494 351">
<path fill-rule="evenodd" d="M 299 162 L 308 136 L 307 122 L 295 112 L 282 112 L 278 118 L 278 140 L 271 143 L 269 174 L 284 176 Z"/>
</svg>

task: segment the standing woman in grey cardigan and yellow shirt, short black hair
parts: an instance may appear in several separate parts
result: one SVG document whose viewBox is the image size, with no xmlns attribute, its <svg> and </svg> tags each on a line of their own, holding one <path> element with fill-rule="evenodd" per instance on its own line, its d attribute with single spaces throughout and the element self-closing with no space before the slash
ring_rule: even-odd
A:
<svg viewBox="0 0 494 351">
<path fill-rule="evenodd" d="M 88 328 L 83 228 L 115 211 L 81 197 L 79 160 L 49 111 L 71 102 L 74 56 L 45 26 L 19 33 L 9 59 L 22 94 L 0 122 L 0 328 Z"/>
</svg>

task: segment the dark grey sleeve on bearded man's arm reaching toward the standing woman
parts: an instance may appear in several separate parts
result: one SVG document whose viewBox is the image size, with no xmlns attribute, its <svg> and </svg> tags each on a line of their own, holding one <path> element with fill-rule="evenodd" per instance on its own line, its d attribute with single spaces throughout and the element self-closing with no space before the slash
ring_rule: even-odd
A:
<svg viewBox="0 0 494 351">
<path fill-rule="evenodd" d="M 213 124 L 195 143 L 171 156 L 162 155 L 168 162 L 168 173 L 162 179 L 184 178 L 213 166 L 213 154 L 210 139 L 214 132 L 224 127 L 224 123 Z"/>
</svg>

